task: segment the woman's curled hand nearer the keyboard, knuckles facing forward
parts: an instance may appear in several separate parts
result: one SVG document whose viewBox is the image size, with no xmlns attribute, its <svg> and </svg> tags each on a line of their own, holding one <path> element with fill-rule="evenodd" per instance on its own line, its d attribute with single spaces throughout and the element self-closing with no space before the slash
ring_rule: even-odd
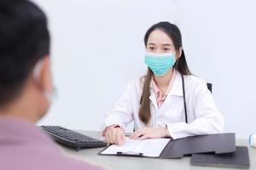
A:
<svg viewBox="0 0 256 170">
<path fill-rule="evenodd" d="M 105 136 L 109 144 L 122 145 L 125 143 L 125 132 L 121 127 L 110 128 Z"/>
</svg>

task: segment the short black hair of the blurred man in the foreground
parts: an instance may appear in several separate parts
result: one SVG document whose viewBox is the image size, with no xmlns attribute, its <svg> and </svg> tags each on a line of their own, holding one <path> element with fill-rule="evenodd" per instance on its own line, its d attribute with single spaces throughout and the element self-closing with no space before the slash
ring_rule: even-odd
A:
<svg viewBox="0 0 256 170">
<path fill-rule="evenodd" d="M 49 54 L 44 12 L 26 0 L 0 0 L 0 106 L 14 99 Z"/>
</svg>

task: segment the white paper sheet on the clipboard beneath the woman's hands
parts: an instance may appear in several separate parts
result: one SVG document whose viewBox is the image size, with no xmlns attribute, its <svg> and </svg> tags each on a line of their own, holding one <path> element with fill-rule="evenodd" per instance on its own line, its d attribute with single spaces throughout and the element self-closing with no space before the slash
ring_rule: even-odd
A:
<svg viewBox="0 0 256 170">
<path fill-rule="evenodd" d="M 117 144 L 110 145 L 106 150 L 102 151 L 102 155 L 116 155 L 117 152 L 123 154 L 138 155 L 143 153 L 143 156 L 158 157 L 170 139 L 143 139 L 133 140 L 126 138 L 125 144 L 119 146 Z"/>
</svg>

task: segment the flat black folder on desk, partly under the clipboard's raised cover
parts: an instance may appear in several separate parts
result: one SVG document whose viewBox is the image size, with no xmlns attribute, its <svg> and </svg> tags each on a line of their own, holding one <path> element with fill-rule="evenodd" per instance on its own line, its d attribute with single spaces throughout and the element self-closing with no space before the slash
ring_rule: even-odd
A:
<svg viewBox="0 0 256 170">
<path fill-rule="evenodd" d="M 193 154 L 190 164 L 213 167 L 250 167 L 247 146 L 236 146 L 236 152 L 226 154 Z"/>
</svg>

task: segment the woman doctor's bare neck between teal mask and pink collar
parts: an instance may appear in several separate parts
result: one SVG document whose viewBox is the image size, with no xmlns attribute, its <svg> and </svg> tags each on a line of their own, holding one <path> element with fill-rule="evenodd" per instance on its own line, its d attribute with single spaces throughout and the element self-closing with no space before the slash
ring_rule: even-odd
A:
<svg viewBox="0 0 256 170">
<path fill-rule="evenodd" d="M 169 83 L 172 79 L 174 68 L 171 68 L 164 76 L 156 77 L 154 76 L 154 82 L 156 83 L 157 87 L 160 89 L 166 89 L 169 86 Z"/>
</svg>

